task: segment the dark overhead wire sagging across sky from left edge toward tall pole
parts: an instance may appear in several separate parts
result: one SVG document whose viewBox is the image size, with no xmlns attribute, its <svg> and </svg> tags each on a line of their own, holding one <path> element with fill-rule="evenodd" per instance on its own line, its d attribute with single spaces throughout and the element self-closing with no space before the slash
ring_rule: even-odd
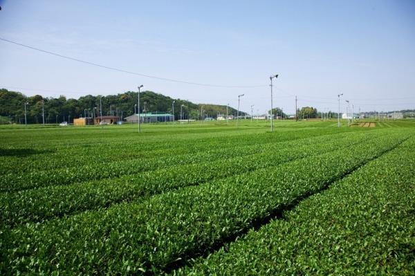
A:
<svg viewBox="0 0 415 276">
<path fill-rule="evenodd" d="M 241 86 L 241 85 L 203 84 L 203 83 L 199 83 L 199 82 L 187 82 L 187 81 L 184 81 L 184 80 L 174 80 L 174 79 L 169 79 L 167 77 L 157 77 L 157 76 L 154 76 L 154 75 L 146 75 L 146 74 L 143 74 L 143 73 L 137 73 L 137 72 L 133 72 L 133 71 L 123 70 L 123 69 L 120 69 L 120 68 L 105 66 L 105 65 L 102 65 L 102 64 L 94 63 L 94 62 L 87 62 L 85 60 L 77 59 L 75 57 L 68 57 L 67 55 L 61 55 L 61 54 L 58 54 L 58 53 L 53 53 L 53 52 L 50 52 L 48 50 L 42 50 L 40 48 L 36 48 L 36 47 L 33 47 L 33 46 L 28 46 L 26 44 L 21 44 L 19 42 L 13 42 L 11 40 L 4 39 L 2 37 L 0 37 L 0 40 L 2 40 L 3 42 L 8 42 L 10 44 L 15 44 L 15 45 L 22 46 L 22 47 L 25 47 L 25 48 L 29 48 L 29 49 L 32 49 L 32 50 L 37 50 L 39 52 L 46 53 L 48 55 L 55 55 L 56 57 L 62 57 L 64 59 L 70 59 L 70 60 L 75 61 L 75 62 L 81 62 L 81 63 L 84 63 L 84 64 L 89 64 L 89 65 L 97 66 L 97 67 L 100 67 L 100 68 L 106 68 L 106 69 L 109 69 L 109 70 L 112 70 L 112 71 L 118 71 L 118 72 L 121 72 L 121 73 L 127 73 L 127 74 L 131 74 L 131 75 L 139 75 L 141 77 L 149 77 L 151 79 L 156 79 L 156 80 L 164 80 L 164 81 L 167 81 L 167 82 L 177 82 L 177 83 L 181 83 L 181 84 L 192 84 L 192 85 L 198 85 L 198 86 L 223 87 L 223 88 L 255 88 L 255 87 L 265 87 L 266 86 L 266 85 Z"/>
</svg>

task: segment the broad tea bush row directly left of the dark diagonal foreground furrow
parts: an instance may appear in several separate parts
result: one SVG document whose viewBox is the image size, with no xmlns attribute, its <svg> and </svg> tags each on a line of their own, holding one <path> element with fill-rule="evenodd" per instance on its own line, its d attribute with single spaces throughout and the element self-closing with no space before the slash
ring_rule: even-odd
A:
<svg viewBox="0 0 415 276">
<path fill-rule="evenodd" d="M 346 136 L 340 141 L 348 147 L 340 149 L 326 145 L 328 149 L 323 150 L 324 143 L 308 145 L 310 156 L 306 158 L 297 152 L 299 156 L 282 158 L 277 166 L 255 167 L 253 171 L 236 172 L 203 185 L 170 192 L 161 190 L 164 193 L 138 202 L 1 230 L 1 271 L 23 274 L 169 271 L 181 260 L 215 250 L 266 223 L 275 214 L 382 156 L 409 137 L 404 131 L 385 131 L 385 134 L 366 139 L 365 143 L 348 140 Z M 284 155 L 289 156 L 288 151 Z M 263 161 L 267 158 L 273 156 Z"/>
</svg>

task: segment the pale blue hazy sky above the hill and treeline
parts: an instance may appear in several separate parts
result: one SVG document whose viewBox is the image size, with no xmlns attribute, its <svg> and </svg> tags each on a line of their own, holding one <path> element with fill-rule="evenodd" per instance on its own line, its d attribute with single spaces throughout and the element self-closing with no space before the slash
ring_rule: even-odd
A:
<svg viewBox="0 0 415 276">
<path fill-rule="evenodd" d="M 0 87 L 26 95 L 145 89 L 264 113 L 313 106 L 337 94 L 362 111 L 415 108 L 415 1 L 0 0 L 0 37 L 109 71 L 0 41 Z M 23 88 L 23 89 L 17 89 Z"/>
</svg>

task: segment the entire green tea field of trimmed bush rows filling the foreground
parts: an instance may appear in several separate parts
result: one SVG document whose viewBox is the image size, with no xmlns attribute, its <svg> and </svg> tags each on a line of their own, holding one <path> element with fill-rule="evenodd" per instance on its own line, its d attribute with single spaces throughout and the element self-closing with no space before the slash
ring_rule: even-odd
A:
<svg viewBox="0 0 415 276">
<path fill-rule="evenodd" d="M 415 122 L 375 125 L 0 126 L 0 274 L 414 275 Z"/>
</svg>

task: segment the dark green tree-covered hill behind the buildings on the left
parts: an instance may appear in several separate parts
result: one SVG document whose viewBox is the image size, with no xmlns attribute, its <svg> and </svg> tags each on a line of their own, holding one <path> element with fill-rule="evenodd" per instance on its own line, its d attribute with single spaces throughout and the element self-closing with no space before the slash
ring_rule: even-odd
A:
<svg viewBox="0 0 415 276">
<path fill-rule="evenodd" d="M 64 95 L 59 98 L 44 98 L 42 95 L 26 97 L 26 95 L 0 89 L 0 116 L 7 117 L 8 121 L 19 122 L 24 120 L 24 103 L 27 104 L 28 122 L 42 122 L 42 100 L 44 100 L 44 112 L 46 122 L 59 122 L 80 116 L 90 116 L 95 111 L 95 116 L 100 112 L 100 95 L 86 95 L 79 99 L 67 99 Z M 137 92 L 128 91 L 116 95 L 102 96 L 102 115 L 113 115 L 127 117 L 134 113 L 134 105 L 137 104 Z M 218 113 L 225 114 L 226 106 L 218 104 L 195 104 L 181 99 L 173 99 L 160 93 L 143 91 L 140 93 L 140 111 L 146 112 L 172 112 L 174 102 L 174 115 L 180 117 L 181 106 L 183 105 L 183 118 L 187 118 L 190 111 L 190 118 L 196 119 L 198 111 L 205 110 L 205 116 L 216 118 Z M 230 107 L 229 114 L 236 114 L 237 110 Z M 242 115 L 245 113 L 241 113 Z"/>
</svg>

